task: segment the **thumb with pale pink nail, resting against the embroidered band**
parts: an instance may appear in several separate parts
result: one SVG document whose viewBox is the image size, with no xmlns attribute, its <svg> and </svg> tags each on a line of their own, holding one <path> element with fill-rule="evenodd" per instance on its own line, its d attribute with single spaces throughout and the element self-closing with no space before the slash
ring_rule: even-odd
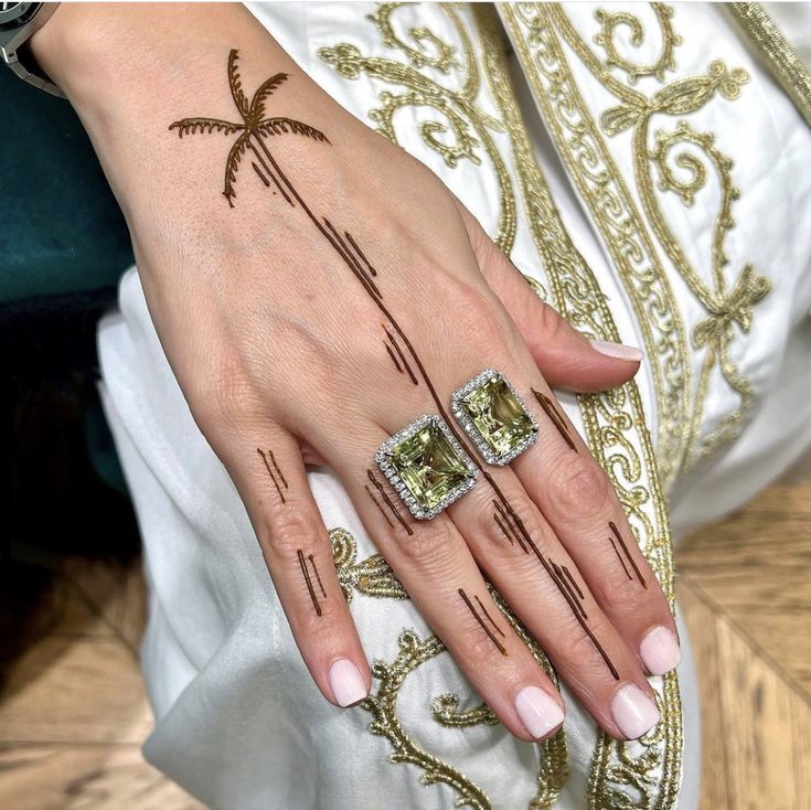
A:
<svg viewBox="0 0 811 810">
<path fill-rule="evenodd" d="M 605 391 L 622 385 L 639 371 L 644 356 L 640 349 L 584 338 L 541 300 L 476 217 L 460 207 L 482 275 L 512 317 L 551 386 Z"/>
</svg>

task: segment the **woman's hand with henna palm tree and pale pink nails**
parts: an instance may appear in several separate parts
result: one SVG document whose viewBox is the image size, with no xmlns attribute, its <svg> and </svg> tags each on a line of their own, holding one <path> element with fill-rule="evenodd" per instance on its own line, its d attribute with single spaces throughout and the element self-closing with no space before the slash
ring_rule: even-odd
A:
<svg viewBox="0 0 811 810">
<path fill-rule="evenodd" d="M 324 696 L 355 703 L 371 675 L 308 459 L 335 470 L 513 734 L 554 732 L 562 701 L 483 575 L 609 734 L 648 731 L 643 667 L 677 662 L 673 619 L 549 388 L 618 385 L 639 353 L 579 337 L 431 172 L 322 93 L 242 7 L 63 4 L 34 49 L 93 138 L 166 353 Z M 540 425 L 506 467 L 450 415 L 451 393 L 484 369 Z M 374 460 L 423 414 L 442 416 L 481 470 L 430 521 Z"/>
</svg>

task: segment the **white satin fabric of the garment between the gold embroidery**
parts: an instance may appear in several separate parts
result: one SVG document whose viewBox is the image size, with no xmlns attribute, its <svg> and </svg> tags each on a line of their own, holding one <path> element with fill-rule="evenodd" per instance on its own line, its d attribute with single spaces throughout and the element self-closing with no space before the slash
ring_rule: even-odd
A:
<svg viewBox="0 0 811 810">
<path fill-rule="evenodd" d="M 594 8 L 576 6 L 570 8 L 573 19 L 588 31 Z M 373 6 L 290 3 L 252 10 L 303 71 L 370 122 L 367 113 L 380 103 L 378 94 L 391 88 L 366 75 L 348 81 L 319 58 L 317 51 L 350 42 L 364 54 L 398 58 L 364 18 L 374 12 Z M 418 23 L 449 41 L 457 36 L 438 6 L 417 4 L 402 12 L 404 28 Z M 462 7 L 459 13 L 467 19 L 470 10 Z M 679 477 L 670 493 L 673 525 L 682 533 L 735 508 L 811 445 L 811 323 L 807 318 L 811 306 L 811 137 L 764 66 L 747 56 L 717 9 L 679 6 L 676 19 L 684 33 L 680 75 L 705 70 L 707 54 L 743 64 L 751 75 L 741 97 L 723 109 L 706 110 L 702 125 L 711 127 L 735 154 L 735 181 L 741 195 L 735 209 L 737 227 L 727 244 L 730 262 L 735 266 L 751 262 L 773 285 L 769 297 L 758 305 L 751 331 L 736 343 L 736 359 L 756 390 L 741 436 Z M 587 77 L 583 82 L 588 86 Z M 521 86 L 521 75 L 516 83 Z M 589 104 L 605 108 L 607 99 L 599 97 L 599 88 L 593 86 L 590 93 Z M 641 344 L 639 324 L 605 245 L 573 191 L 529 88 L 521 95 L 536 156 L 562 217 L 593 267 L 625 342 Z M 493 174 L 471 161 L 449 169 L 417 135 L 419 110 L 406 107 L 398 116 L 403 146 L 436 171 L 492 233 L 499 210 Z M 632 167 L 623 157 L 627 152 L 621 145 L 612 146 L 622 171 L 632 178 Z M 212 170 L 218 172 L 215 167 Z M 214 185 L 212 194 L 216 196 Z M 693 219 L 679 222 L 682 239 L 698 244 L 715 212 L 712 195 L 697 198 Z M 522 271 L 544 281 L 523 209 L 512 257 Z M 677 290 L 680 306 L 690 313 L 694 308 L 690 295 Z M 244 507 L 191 418 L 135 269 L 121 281 L 119 303 L 119 311 L 105 318 L 99 328 L 102 393 L 146 550 L 150 612 L 142 665 L 156 714 L 146 756 L 206 804 L 222 810 L 452 808 L 458 793 L 450 787 L 425 785 L 420 767 L 388 761 L 392 746 L 369 731 L 372 718 L 367 712 L 332 707 L 311 683 Z M 638 382 L 655 435 L 657 395 L 644 364 Z M 724 386 L 711 385 L 707 430 L 714 415 L 735 407 L 729 396 Z M 574 401 L 564 397 L 564 406 L 579 426 Z M 328 470 L 312 470 L 310 484 L 327 526 L 343 527 L 354 536 L 359 559 L 373 554 L 335 477 Z M 370 660 L 393 661 L 404 629 L 413 629 L 420 639 L 430 636 L 407 600 L 355 595 L 351 608 Z M 697 807 L 700 732 L 686 644 L 685 652 L 680 668 L 684 780 L 676 804 L 687 810 Z M 398 699 L 405 732 L 416 745 L 479 786 L 493 808 L 527 807 L 536 789 L 535 747 L 515 740 L 500 726 L 449 729 L 438 725 L 430 716 L 430 700 L 446 692 L 460 695 L 461 711 L 479 703 L 449 656 L 442 653 L 405 682 Z M 569 776 L 556 807 L 580 810 L 588 802 L 596 731 L 569 695 L 566 703 Z M 660 776 L 654 769 L 651 778 Z M 655 793 L 655 786 L 652 790 Z M 638 800 L 633 789 L 629 796 Z"/>
</svg>

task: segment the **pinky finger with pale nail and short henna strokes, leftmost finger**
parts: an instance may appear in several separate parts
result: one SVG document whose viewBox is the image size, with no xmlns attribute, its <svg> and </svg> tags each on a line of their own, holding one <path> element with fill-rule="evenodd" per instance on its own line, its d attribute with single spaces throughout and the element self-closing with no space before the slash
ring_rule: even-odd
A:
<svg viewBox="0 0 811 810">
<path fill-rule="evenodd" d="M 238 472 L 233 466 L 230 472 L 301 657 L 328 701 L 352 706 L 369 695 L 372 675 L 298 440 L 273 425 L 262 430 L 262 444 L 243 450 Z"/>
</svg>

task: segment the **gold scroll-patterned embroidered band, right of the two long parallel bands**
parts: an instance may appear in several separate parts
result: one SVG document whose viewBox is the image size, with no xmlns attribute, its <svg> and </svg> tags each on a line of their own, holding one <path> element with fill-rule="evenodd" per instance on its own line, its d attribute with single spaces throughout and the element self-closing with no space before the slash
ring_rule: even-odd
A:
<svg viewBox="0 0 811 810">
<path fill-rule="evenodd" d="M 637 315 L 658 395 L 660 473 L 669 486 L 690 441 L 691 369 L 675 297 L 631 194 L 570 75 L 551 24 L 551 6 L 504 3 L 500 8 L 549 132 L 606 237 Z M 642 98 L 618 84 L 628 103 Z"/>
</svg>

